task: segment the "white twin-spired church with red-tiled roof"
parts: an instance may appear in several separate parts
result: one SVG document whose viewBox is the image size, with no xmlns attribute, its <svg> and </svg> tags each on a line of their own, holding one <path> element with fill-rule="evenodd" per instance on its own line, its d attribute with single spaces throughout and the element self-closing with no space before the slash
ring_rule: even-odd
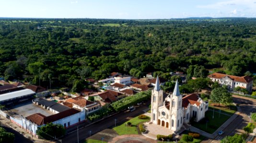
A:
<svg viewBox="0 0 256 143">
<path fill-rule="evenodd" d="M 177 132 L 192 118 L 196 122 L 203 119 L 207 110 L 208 102 L 204 102 L 198 94 L 192 93 L 182 97 L 178 81 L 176 81 L 174 92 L 163 99 L 163 90 L 160 88 L 157 76 L 151 94 L 151 123 Z"/>
</svg>

